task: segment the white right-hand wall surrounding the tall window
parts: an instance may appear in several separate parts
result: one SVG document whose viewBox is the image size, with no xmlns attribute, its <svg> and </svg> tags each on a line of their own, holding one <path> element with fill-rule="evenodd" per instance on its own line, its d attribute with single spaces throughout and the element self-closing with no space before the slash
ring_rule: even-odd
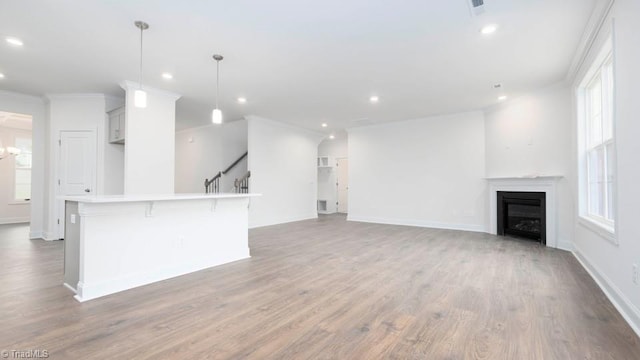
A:
<svg viewBox="0 0 640 360">
<path fill-rule="evenodd" d="M 580 81 L 604 41 L 612 20 L 615 20 L 615 137 L 617 156 L 616 237 L 618 244 L 602 238 L 596 232 L 574 221 L 574 245 L 577 257 L 600 282 L 614 304 L 640 334 L 640 285 L 632 281 L 632 266 L 640 266 L 640 2 L 616 0 L 610 16 L 600 32 L 584 66 L 578 72 Z M 575 123 L 574 123 L 575 126 Z M 574 128 L 573 133 L 576 134 Z M 575 144 L 575 138 L 574 138 Z M 574 145 L 574 149 L 575 149 Z M 574 151 L 574 162 L 577 162 Z M 577 199 L 577 178 L 573 177 Z M 575 203 L 577 208 L 577 202 Z"/>
</svg>

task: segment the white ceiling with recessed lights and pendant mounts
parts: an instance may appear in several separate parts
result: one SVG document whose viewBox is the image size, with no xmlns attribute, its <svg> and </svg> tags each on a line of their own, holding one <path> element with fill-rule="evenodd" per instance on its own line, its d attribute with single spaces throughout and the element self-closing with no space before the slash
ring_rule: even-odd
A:
<svg viewBox="0 0 640 360">
<path fill-rule="evenodd" d="M 467 0 L 2 0 L 0 36 L 24 47 L 0 43 L 0 89 L 122 96 L 144 20 L 144 83 L 182 94 L 178 128 L 209 123 L 219 53 L 225 120 L 330 132 L 482 109 L 494 83 L 515 97 L 561 81 L 596 1 L 485 0 L 472 17 Z"/>
</svg>

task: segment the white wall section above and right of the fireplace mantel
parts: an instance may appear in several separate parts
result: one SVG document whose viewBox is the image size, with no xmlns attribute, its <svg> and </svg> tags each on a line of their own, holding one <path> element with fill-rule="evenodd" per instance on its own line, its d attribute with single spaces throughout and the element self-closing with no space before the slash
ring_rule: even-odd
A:
<svg viewBox="0 0 640 360">
<path fill-rule="evenodd" d="M 559 175 L 558 244 L 571 248 L 572 107 L 569 86 L 557 84 L 485 112 L 487 177 Z"/>
</svg>

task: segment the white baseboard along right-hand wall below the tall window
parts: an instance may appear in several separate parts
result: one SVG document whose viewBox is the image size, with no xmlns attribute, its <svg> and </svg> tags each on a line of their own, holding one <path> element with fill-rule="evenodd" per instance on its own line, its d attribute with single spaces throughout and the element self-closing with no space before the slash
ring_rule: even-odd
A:
<svg viewBox="0 0 640 360">
<path fill-rule="evenodd" d="M 640 310 L 618 289 L 617 286 L 594 264 L 584 256 L 580 249 L 574 244 L 573 256 L 578 259 L 582 267 L 587 270 L 593 280 L 607 296 L 609 301 L 620 312 L 620 315 L 627 321 L 631 329 L 640 337 Z"/>
</svg>

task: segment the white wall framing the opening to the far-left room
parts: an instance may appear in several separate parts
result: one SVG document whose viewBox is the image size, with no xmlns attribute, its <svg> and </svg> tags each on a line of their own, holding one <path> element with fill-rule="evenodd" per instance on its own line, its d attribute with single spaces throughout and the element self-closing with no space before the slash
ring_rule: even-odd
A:
<svg viewBox="0 0 640 360">
<path fill-rule="evenodd" d="M 31 224 L 29 237 L 42 238 L 45 231 L 45 213 L 48 200 L 45 197 L 47 172 L 45 153 L 46 138 L 46 110 L 42 98 L 19 93 L 0 91 L 0 110 L 32 116 L 32 144 L 33 163 L 31 170 Z"/>
</svg>

